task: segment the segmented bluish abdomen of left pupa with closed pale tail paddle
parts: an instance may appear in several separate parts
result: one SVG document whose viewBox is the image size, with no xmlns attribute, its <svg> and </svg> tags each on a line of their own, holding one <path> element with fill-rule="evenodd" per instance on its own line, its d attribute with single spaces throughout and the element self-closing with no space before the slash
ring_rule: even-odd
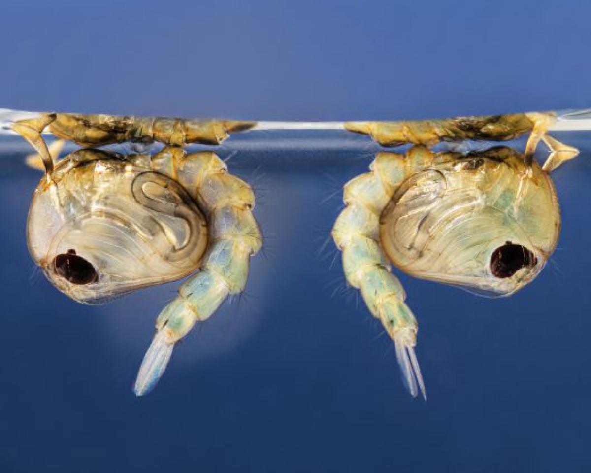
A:
<svg viewBox="0 0 591 473">
<path fill-rule="evenodd" d="M 173 346 L 209 318 L 229 294 L 246 286 L 250 258 L 261 248 L 261 234 L 252 215 L 252 189 L 226 174 L 212 153 L 177 156 L 180 182 L 196 186 L 196 199 L 207 216 L 210 247 L 201 270 L 181 285 L 178 297 L 158 316 L 157 333 L 139 368 L 135 394 L 147 394 L 162 376 Z M 162 163 L 159 163 L 162 164 Z"/>
</svg>

